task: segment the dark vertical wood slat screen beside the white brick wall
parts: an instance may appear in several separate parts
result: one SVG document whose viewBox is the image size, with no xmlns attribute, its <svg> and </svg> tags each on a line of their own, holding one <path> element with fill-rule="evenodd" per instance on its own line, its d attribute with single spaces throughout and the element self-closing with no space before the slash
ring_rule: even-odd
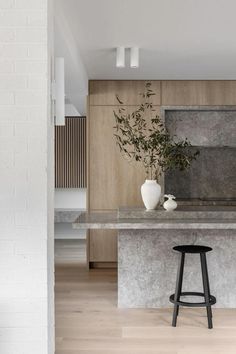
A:
<svg viewBox="0 0 236 354">
<path fill-rule="evenodd" d="M 86 188 L 86 117 L 55 127 L 55 188 Z"/>
</svg>

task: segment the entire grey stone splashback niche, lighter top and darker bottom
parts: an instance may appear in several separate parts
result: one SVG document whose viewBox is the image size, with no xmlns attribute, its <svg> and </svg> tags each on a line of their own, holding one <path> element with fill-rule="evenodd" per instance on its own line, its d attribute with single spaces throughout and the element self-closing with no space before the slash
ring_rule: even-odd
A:
<svg viewBox="0 0 236 354">
<path fill-rule="evenodd" d="M 200 156 L 189 170 L 165 174 L 165 193 L 181 200 L 236 200 L 236 110 L 232 107 L 166 109 L 176 140 L 188 138 Z"/>
</svg>

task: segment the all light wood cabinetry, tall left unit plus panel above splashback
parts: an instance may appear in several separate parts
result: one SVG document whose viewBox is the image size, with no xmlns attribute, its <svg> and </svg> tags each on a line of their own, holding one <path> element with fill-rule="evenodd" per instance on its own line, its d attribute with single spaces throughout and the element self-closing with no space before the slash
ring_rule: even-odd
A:
<svg viewBox="0 0 236 354">
<path fill-rule="evenodd" d="M 236 105 L 236 81 L 151 81 L 160 106 Z M 145 81 L 90 81 L 88 99 L 88 208 L 114 210 L 141 206 L 140 186 L 145 173 L 140 164 L 121 156 L 114 139 L 116 95 L 133 111 Z M 92 267 L 111 267 L 117 261 L 117 235 L 112 230 L 88 233 L 88 261 Z"/>
</svg>

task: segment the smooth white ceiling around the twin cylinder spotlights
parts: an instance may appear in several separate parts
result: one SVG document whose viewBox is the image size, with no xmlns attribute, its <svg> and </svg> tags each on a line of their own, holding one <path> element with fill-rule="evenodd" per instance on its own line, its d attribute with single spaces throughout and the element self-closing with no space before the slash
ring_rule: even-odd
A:
<svg viewBox="0 0 236 354">
<path fill-rule="evenodd" d="M 56 55 L 67 56 L 67 93 L 80 111 L 87 79 L 236 79 L 236 0 L 56 0 L 55 6 Z M 129 67 L 127 51 L 126 68 L 116 68 L 117 46 L 140 47 L 140 67 Z"/>
</svg>

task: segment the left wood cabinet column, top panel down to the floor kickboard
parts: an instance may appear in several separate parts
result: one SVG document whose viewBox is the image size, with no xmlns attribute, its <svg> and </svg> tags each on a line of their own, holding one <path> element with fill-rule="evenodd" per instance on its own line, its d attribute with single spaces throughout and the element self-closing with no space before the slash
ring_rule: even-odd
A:
<svg viewBox="0 0 236 354">
<path fill-rule="evenodd" d="M 133 111 L 142 98 L 145 81 L 91 81 L 88 117 L 88 206 L 90 210 L 114 210 L 119 206 L 141 206 L 140 186 L 145 179 L 142 166 L 128 162 L 119 152 L 114 137 L 114 114 L 124 101 Z M 160 82 L 154 81 L 154 103 L 159 108 Z M 91 266 L 113 266 L 117 261 L 117 233 L 91 230 L 88 236 Z"/>
</svg>

